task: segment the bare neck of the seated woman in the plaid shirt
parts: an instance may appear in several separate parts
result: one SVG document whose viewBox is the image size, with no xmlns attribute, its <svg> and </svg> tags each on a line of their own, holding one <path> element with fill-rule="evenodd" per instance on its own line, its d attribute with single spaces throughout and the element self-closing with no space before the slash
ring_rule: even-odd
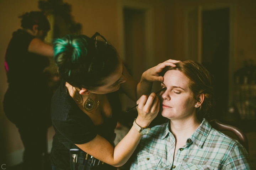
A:
<svg viewBox="0 0 256 170">
<path fill-rule="evenodd" d="M 175 137 L 188 138 L 196 131 L 200 124 L 201 122 L 197 119 L 196 115 L 193 114 L 186 119 L 170 120 L 170 131 Z"/>
</svg>

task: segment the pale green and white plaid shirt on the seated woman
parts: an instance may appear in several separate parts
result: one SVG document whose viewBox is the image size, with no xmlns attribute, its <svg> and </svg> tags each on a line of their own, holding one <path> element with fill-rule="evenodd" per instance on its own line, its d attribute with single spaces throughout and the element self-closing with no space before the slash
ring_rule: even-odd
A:
<svg viewBox="0 0 256 170">
<path fill-rule="evenodd" d="M 168 123 L 153 127 L 144 135 L 130 170 L 223 170 L 253 169 L 248 153 L 238 141 L 215 130 L 204 119 L 179 148 L 174 158 L 175 138 Z"/>
</svg>

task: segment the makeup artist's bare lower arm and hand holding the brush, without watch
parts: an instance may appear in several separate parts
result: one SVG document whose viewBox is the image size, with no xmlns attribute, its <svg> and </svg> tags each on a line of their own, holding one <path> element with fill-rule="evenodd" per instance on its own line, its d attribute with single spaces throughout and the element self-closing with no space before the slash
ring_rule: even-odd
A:
<svg viewBox="0 0 256 170">
<path fill-rule="evenodd" d="M 138 102 L 138 117 L 136 123 L 140 127 L 147 127 L 159 112 L 159 99 L 155 93 L 143 95 Z M 128 134 L 113 147 L 105 138 L 97 135 L 90 142 L 77 145 L 84 152 L 113 166 L 122 166 L 137 147 L 142 135 L 132 126 Z"/>
</svg>

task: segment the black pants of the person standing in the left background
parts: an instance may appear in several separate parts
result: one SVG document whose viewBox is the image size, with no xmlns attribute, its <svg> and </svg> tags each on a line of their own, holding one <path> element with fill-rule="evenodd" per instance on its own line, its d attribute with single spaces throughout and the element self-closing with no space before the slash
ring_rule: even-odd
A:
<svg viewBox="0 0 256 170">
<path fill-rule="evenodd" d="M 14 103 L 8 91 L 4 98 L 6 117 L 16 125 L 24 145 L 24 170 L 41 170 L 43 153 L 47 152 L 47 130 L 50 116 L 49 106 L 34 103 L 26 97 Z"/>
</svg>

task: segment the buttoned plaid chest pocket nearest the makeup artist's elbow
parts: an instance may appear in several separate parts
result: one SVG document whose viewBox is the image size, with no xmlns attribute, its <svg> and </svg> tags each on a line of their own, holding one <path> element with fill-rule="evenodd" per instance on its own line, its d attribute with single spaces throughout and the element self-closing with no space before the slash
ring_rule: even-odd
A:
<svg viewBox="0 0 256 170">
<path fill-rule="evenodd" d="M 159 167 L 161 157 L 154 155 L 146 151 L 140 151 L 137 154 L 138 157 L 138 170 L 165 170 L 165 168 Z"/>
</svg>

